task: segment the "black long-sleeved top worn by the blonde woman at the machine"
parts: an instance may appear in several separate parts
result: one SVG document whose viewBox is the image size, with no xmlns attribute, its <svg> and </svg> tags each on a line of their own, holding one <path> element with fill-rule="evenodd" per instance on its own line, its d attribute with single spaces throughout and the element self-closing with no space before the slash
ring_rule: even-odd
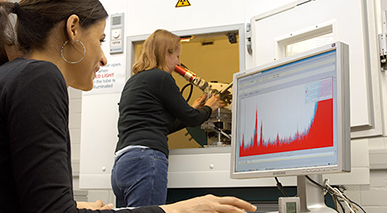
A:
<svg viewBox="0 0 387 213">
<path fill-rule="evenodd" d="M 169 133 L 206 121 L 212 109 L 192 108 L 181 95 L 172 75 L 145 70 L 133 75 L 121 94 L 116 151 L 128 145 L 159 150 L 168 157 Z"/>
</svg>

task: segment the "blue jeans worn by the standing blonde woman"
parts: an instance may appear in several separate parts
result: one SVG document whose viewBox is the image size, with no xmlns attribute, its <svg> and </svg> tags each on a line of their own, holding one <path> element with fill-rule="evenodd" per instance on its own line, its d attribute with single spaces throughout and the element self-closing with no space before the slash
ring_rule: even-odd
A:
<svg viewBox="0 0 387 213">
<path fill-rule="evenodd" d="M 131 149 L 116 158 L 112 188 L 121 207 L 163 205 L 167 198 L 168 159 L 153 149 Z"/>
</svg>

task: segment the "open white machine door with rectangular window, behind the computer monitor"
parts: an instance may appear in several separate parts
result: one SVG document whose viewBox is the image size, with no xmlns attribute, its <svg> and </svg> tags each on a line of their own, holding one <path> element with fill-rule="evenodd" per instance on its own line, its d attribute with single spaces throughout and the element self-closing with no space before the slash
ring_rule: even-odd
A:
<svg viewBox="0 0 387 213">
<path fill-rule="evenodd" d="M 371 1 L 298 0 L 251 18 L 247 50 L 252 68 L 327 43 L 350 50 L 351 136 L 382 134 L 378 56 Z M 370 12 L 371 11 L 371 12 Z M 370 36 L 371 34 L 371 36 Z"/>
</svg>

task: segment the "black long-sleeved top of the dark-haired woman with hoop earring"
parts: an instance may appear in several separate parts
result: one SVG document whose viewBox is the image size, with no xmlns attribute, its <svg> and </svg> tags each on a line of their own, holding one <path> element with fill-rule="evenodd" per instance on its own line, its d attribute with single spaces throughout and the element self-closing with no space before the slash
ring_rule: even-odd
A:
<svg viewBox="0 0 387 213">
<path fill-rule="evenodd" d="M 19 58 L 0 66 L 0 212 L 93 212 L 76 209 L 73 197 L 68 102 L 54 64 Z"/>
</svg>

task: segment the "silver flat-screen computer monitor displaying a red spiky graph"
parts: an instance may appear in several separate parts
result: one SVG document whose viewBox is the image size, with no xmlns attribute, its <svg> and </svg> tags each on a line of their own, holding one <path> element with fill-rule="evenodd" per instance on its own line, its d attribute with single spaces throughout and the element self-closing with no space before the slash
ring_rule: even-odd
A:
<svg viewBox="0 0 387 213">
<path fill-rule="evenodd" d="M 305 175 L 350 171 L 348 49 L 336 42 L 234 74 L 231 178 L 298 176 L 310 196 Z"/>
</svg>

